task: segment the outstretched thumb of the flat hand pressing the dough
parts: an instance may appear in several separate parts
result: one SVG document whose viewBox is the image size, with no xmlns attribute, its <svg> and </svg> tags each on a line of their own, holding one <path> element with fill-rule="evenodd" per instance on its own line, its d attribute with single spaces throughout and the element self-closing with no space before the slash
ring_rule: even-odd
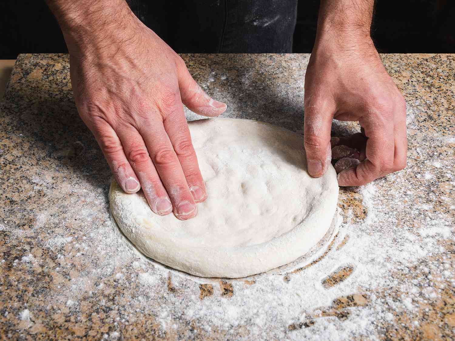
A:
<svg viewBox="0 0 455 341">
<path fill-rule="evenodd" d="M 226 104 L 214 100 L 201 89 L 184 64 L 178 70 L 178 87 L 182 103 L 196 114 L 215 117 L 227 108 Z"/>
</svg>

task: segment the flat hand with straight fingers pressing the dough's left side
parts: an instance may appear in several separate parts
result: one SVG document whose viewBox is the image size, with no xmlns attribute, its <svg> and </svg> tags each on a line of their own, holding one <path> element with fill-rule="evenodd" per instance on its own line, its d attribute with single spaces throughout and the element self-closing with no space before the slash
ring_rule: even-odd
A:
<svg viewBox="0 0 455 341">
<path fill-rule="evenodd" d="M 94 19 L 102 29 L 64 31 L 76 106 L 125 192 L 142 187 L 153 212 L 190 219 L 207 195 L 182 103 L 209 117 L 226 105 L 126 4 L 121 10 L 112 24 Z"/>
</svg>

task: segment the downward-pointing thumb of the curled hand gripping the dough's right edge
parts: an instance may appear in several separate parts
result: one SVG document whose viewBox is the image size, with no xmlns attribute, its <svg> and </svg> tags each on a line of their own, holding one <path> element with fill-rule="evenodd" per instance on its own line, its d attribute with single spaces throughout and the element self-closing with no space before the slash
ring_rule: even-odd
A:
<svg viewBox="0 0 455 341">
<path fill-rule="evenodd" d="M 330 129 L 333 112 L 334 103 L 305 101 L 303 144 L 308 173 L 314 177 L 323 176 L 332 160 Z"/>
</svg>

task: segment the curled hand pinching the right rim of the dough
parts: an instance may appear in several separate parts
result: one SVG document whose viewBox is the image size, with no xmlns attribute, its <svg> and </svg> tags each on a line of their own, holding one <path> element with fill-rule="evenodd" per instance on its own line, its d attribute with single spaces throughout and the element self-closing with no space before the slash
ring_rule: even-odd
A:
<svg viewBox="0 0 455 341">
<path fill-rule="evenodd" d="M 308 172 L 322 176 L 331 160 L 332 119 L 359 121 L 362 133 L 344 144 L 358 149 L 362 162 L 341 171 L 338 182 L 360 186 L 404 169 L 406 103 L 371 39 L 349 39 L 343 44 L 338 43 L 342 39 L 320 39 L 315 44 L 305 75 L 304 145 Z"/>
</svg>

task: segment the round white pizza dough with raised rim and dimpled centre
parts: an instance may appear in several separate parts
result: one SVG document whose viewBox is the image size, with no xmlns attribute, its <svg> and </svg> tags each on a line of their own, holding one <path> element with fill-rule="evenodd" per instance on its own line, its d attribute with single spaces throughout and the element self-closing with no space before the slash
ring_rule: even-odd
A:
<svg viewBox="0 0 455 341">
<path fill-rule="evenodd" d="M 202 277 L 244 277 L 303 256 L 328 231 L 338 183 L 332 165 L 306 171 L 303 136 L 241 119 L 189 122 L 207 187 L 197 216 L 154 214 L 142 191 L 111 184 L 111 212 L 145 255 Z"/>
</svg>

